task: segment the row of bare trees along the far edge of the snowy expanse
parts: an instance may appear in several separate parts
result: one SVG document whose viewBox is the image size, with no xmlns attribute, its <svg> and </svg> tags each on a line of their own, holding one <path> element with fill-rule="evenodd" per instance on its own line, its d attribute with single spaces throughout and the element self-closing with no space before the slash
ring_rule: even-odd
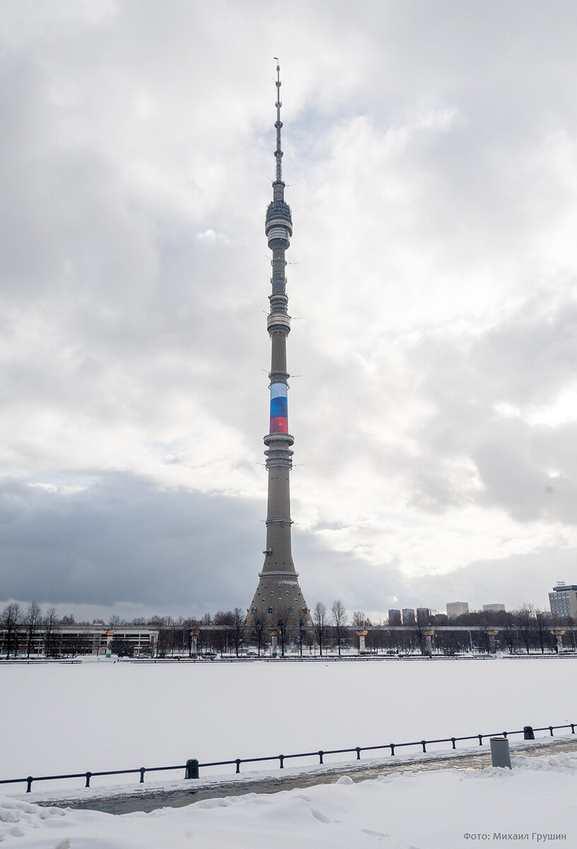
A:
<svg viewBox="0 0 577 849">
<path fill-rule="evenodd" d="M 360 610 L 350 616 L 340 599 L 334 599 L 330 608 L 322 601 L 311 610 L 311 618 L 296 621 L 291 610 L 277 610 L 272 616 L 257 615 L 250 627 L 245 626 L 244 610 L 219 610 L 214 616 L 204 614 L 194 617 L 153 616 L 126 622 L 119 616 L 109 619 L 108 627 L 118 629 L 122 626 L 151 627 L 159 631 L 155 646 L 159 656 L 189 656 L 193 654 L 193 633 L 196 651 L 199 654 L 235 654 L 244 650 L 261 655 L 271 643 L 271 633 L 276 634 L 277 650 L 285 655 L 289 648 L 303 652 L 319 651 L 320 655 L 328 651 L 341 655 L 343 650 L 358 646 L 356 632 L 369 628 L 366 638 L 367 651 L 403 654 L 412 651 L 426 653 L 430 643 L 424 632 L 433 628 L 433 648 L 436 653 L 453 655 L 463 651 L 502 650 L 510 653 L 523 651 L 557 650 L 557 638 L 553 636 L 555 628 L 570 627 L 573 622 L 567 618 L 559 619 L 550 613 L 535 610 L 526 604 L 513 612 L 495 611 L 469 613 L 457 620 L 447 621 L 443 614 L 431 614 L 427 621 L 417 620 L 410 630 L 395 631 L 387 623 L 373 623 Z M 8 604 L 0 614 L 0 654 L 15 656 L 18 651 L 30 657 L 38 649 L 42 639 L 42 649 L 47 656 L 84 654 L 92 650 L 92 641 L 87 636 L 66 634 L 62 626 L 74 625 L 74 616 L 59 618 L 53 607 L 42 614 L 39 604 L 31 602 L 26 608 L 16 602 Z M 80 624 L 80 623 L 79 623 Z M 102 623 L 104 625 L 104 622 Z M 440 631 L 440 626 L 450 624 L 455 627 L 451 632 Z M 473 630 L 469 630 L 473 628 Z M 490 636 L 491 628 L 498 628 L 497 635 Z M 435 630 L 436 629 L 436 630 Z M 69 629 L 70 630 L 70 629 Z M 42 638 L 39 634 L 42 633 Z M 568 630 L 563 638 L 564 646 L 574 649 L 573 633 Z M 90 643 L 90 644 L 89 644 Z M 119 655 L 132 655 L 134 644 L 121 636 L 113 641 L 112 650 Z"/>
</svg>

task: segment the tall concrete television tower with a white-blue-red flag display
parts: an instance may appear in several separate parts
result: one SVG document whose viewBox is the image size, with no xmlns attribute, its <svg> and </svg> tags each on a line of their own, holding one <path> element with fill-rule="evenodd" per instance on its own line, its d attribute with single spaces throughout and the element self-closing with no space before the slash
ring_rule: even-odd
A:
<svg viewBox="0 0 577 849">
<path fill-rule="evenodd" d="M 311 614 L 300 591 L 299 575 L 294 569 L 290 544 L 290 469 L 293 468 L 293 437 L 289 434 L 289 408 L 287 394 L 287 336 L 290 316 L 287 312 L 287 278 L 284 252 L 293 235 L 290 207 L 284 200 L 283 151 L 281 149 L 281 78 L 277 65 L 277 174 L 272 183 L 272 202 L 268 205 L 265 233 L 272 250 L 272 294 L 269 295 L 270 312 L 266 326 L 271 337 L 271 371 L 268 375 L 271 391 L 271 420 L 265 436 L 266 469 L 268 469 L 268 509 L 266 513 L 265 562 L 259 572 L 259 585 L 249 607 L 247 625 L 254 625 L 256 617 L 263 617 L 274 627 L 279 619 L 298 625 L 311 623 Z"/>
</svg>

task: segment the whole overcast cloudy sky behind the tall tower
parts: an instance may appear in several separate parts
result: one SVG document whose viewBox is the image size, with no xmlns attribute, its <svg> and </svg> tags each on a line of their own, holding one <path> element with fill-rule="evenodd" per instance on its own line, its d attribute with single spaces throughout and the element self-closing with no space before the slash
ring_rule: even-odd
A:
<svg viewBox="0 0 577 849">
<path fill-rule="evenodd" d="M 0 2 L 0 604 L 246 607 L 283 76 L 312 606 L 577 582 L 573 0 Z"/>
</svg>

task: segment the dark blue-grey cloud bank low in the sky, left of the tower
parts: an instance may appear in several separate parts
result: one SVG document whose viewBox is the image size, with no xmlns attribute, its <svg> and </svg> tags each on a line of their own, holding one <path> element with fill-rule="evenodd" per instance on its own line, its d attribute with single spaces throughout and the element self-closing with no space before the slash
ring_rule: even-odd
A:
<svg viewBox="0 0 577 849">
<path fill-rule="evenodd" d="M 0 510 L 3 599 L 186 616 L 254 592 L 264 535 L 254 503 L 100 475 L 79 492 L 4 485 Z"/>
</svg>

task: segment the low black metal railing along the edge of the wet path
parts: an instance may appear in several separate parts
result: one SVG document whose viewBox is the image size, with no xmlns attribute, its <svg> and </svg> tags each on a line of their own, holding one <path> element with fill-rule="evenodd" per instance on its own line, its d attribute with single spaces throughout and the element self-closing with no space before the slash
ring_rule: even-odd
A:
<svg viewBox="0 0 577 849">
<path fill-rule="evenodd" d="M 440 739 L 431 740 L 412 740 L 410 743 L 385 743 L 382 745 L 365 745 L 353 746 L 350 749 L 319 749 L 318 751 L 302 751 L 291 755 L 269 755 L 266 757 L 237 757 L 230 761 L 210 761 L 199 763 L 198 760 L 191 758 L 186 763 L 178 764 L 176 767 L 137 767 L 136 769 L 110 769 L 101 772 L 86 772 L 86 773 L 68 773 L 66 775 L 28 775 L 25 779 L 0 779 L 0 784 L 26 784 L 26 793 L 31 793 L 32 782 L 34 781 L 56 781 L 58 779 L 86 779 L 85 787 L 90 787 L 92 778 L 100 775 L 129 775 L 131 773 L 140 773 L 139 784 L 144 784 L 145 773 L 163 773 L 173 769 L 184 769 L 185 779 L 198 779 L 199 769 L 201 767 L 228 767 L 234 766 L 235 774 L 240 773 L 241 763 L 261 763 L 266 761 L 278 761 L 279 768 L 284 768 L 284 762 L 290 758 L 296 757 L 318 757 L 319 766 L 324 763 L 325 755 L 348 755 L 356 753 L 356 760 L 361 760 L 362 751 L 379 751 L 389 749 L 390 755 L 395 755 L 395 750 L 406 746 L 421 746 L 423 752 L 427 753 L 427 746 L 433 743 L 451 743 L 451 749 L 457 749 L 457 743 L 462 743 L 464 740 L 479 740 L 479 745 L 483 745 L 483 740 L 487 737 L 511 737 L 513 734 L 523 734 L 524 739 L 535 739 L 535 731 L 548 731 L 553 737 L 553 731 L 558 731 L 565 728 L 571 728 L 571 734 L 575 733 L 576 722 L 571 722 L 569 725 L 546 725 L 543 728 L 533 728 L 526 725 L 521 731 L 497 731 L 491 734 L 470 734 L 468 737 L 443 737 Z"/>
</svg>

